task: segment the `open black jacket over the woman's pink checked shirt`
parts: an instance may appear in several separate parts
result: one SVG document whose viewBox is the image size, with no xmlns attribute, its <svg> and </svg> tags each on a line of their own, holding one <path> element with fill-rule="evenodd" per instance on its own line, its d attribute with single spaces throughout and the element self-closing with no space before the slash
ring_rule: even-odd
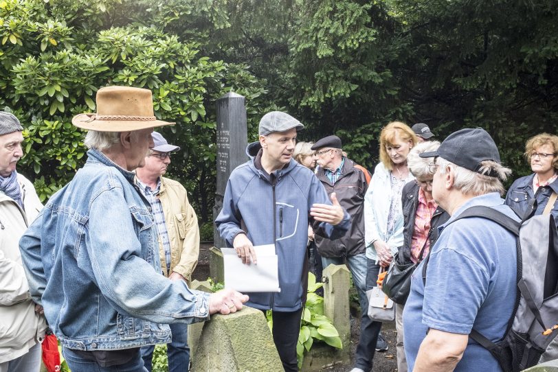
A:
<svg viewBox="0 0 558 372">
<path fill-rule="evenodd" d="M 403 186 L 401 194 L 401 205 L 403 206 L 403 246 L 399 249 L 399 261 L 401 264 L 410 264 L 411 261 L 411 242 L 414 232 L 414 219 L 416 217 L 416 207 L 418 207 L 418 189 L 416 181 L 411 181 Z M 449 214 L 437 207 L 430 220 L 430 230 L 428 238 L 430 240 L 430 248 L 434 246 L 438 240 L 438 226 L 449 220 Z"/>
</svg>

